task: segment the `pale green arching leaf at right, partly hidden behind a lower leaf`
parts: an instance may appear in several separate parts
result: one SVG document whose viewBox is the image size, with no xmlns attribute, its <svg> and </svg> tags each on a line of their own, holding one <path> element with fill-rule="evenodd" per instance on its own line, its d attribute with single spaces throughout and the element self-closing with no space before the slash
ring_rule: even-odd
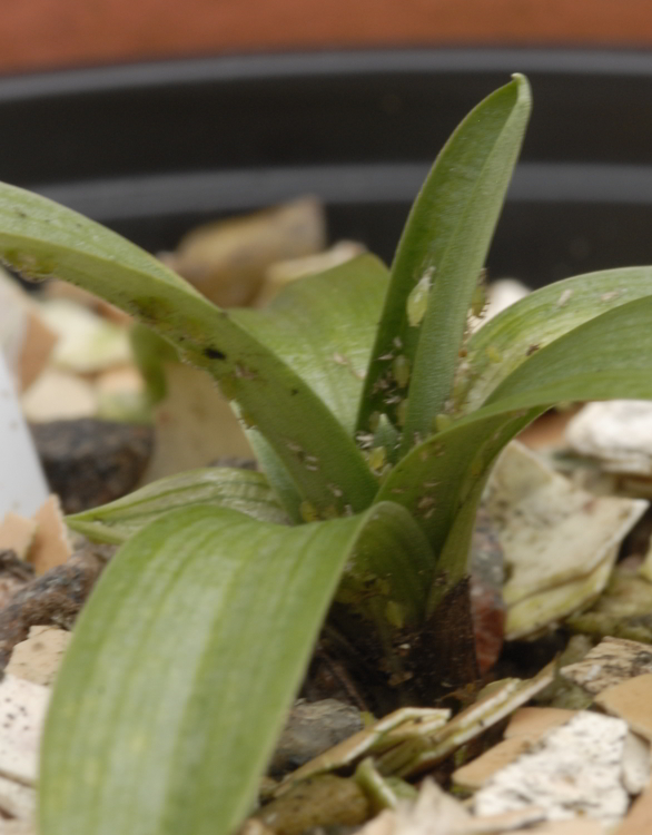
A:
<svg viewBox="0 0 652 835">
<path fill-rule="evenodd" d="M 456 392 L 462 413 L 478 409 L 508 374 L 553 340 L 606 311 L 649 295 L 650 267 L 577 275 L 534 291 L 468 341 L 468 367 Z"/>
</svg>

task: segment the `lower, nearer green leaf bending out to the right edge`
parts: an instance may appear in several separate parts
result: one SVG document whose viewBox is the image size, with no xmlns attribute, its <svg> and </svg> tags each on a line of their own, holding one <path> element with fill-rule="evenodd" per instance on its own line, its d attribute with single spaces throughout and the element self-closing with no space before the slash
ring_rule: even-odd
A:
<svg viewBox="0 0 652 835">
<path fill-rule="evenodd" d="M 464 576 L 464 542 L 478 490 L 501 449 L 554 403 L 652 399 L 652 297 L 595 316 L 526 358 L 486 404 L 412 450 L 389 473 L 376 501 L 403 504 L 438 557 L 432 611 Z M 433 503 L 424 504 L 424 497 Z"/>
</svg>

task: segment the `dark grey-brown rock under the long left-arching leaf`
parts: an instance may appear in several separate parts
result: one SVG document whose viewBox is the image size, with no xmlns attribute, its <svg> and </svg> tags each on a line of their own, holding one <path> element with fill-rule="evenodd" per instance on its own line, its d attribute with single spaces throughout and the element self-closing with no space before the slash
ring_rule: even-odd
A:
<svg viewBox="0 0 652 835">
<path fill-rule="evenodd" d="M 85 418 L 32 424 L 50 489 L 66 513 L 119 499 L 139 481 L 154 445 L 151 426 Z"/>
</svg>

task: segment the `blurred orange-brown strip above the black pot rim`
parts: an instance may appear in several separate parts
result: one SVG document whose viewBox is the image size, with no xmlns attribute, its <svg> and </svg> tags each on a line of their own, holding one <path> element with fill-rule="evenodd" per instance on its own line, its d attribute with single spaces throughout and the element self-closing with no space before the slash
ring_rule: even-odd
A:
<svg viewBox="0 0 652 835">
<path fill-rule="evenodd" d="M 407 45 L 650 45 L 649 0 L 4 0 L 0 71 Z"/>
</svg>

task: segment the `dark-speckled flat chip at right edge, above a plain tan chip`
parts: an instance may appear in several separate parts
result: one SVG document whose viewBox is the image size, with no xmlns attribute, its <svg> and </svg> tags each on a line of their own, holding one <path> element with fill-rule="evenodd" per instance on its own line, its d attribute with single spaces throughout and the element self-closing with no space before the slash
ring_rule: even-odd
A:
<svg viewBox="0 0 652 835">
<path fill-rule="evenodd" d="M 562 667 L 560 672 L 596 696 L 629 678 L 652 672 L 652 647 L 624 638 L 605 638 L 582 661 Z"/>
</svg>

